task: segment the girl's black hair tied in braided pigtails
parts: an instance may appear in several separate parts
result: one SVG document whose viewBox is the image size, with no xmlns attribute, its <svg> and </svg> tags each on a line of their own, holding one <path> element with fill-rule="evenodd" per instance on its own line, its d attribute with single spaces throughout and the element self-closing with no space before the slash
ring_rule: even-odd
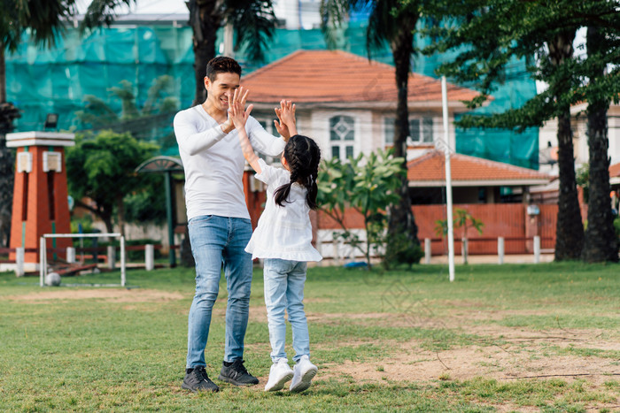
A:
<svg viewBox="0 0 620 413">
<path fill-rule="evenodd" d="M 284 158 L 291 168 L 291 182 L 278 187 L 274 192 L 275 203 L 284 206 L 288 203 L 287 198 L 291 193 L 291 186 L 295 182 L 306 187 L 306 203 L 311 210 L 316 210 L 316 195 L 318 188 L 316 187 L 316 178 L 319 174 L 319 162 L 321 161 L 321 149 L 315 141 L 296 134 L 284 147 Z"/>
</svg>

